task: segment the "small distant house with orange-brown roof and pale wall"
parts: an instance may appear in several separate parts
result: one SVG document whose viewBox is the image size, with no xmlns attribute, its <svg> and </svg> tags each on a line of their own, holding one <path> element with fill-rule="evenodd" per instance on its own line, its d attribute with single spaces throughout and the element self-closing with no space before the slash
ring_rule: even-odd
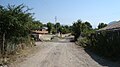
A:
<svg viewBox="0 0 120 67">
<path fill-rule="evenodd" d="M 43 27 L 43 28 L 37 28 L 37 29 L 32 29 L 32 36 L 36 41 L 41 40 L 42 35 L 48 34 L 48 28 Z"/>
</svg>

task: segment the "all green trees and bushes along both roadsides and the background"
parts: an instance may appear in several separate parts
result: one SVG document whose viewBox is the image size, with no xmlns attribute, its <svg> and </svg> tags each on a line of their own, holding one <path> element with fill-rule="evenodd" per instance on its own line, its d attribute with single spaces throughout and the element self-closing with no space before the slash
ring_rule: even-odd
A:
<svg viewBox="0 0 120 67">
<path fill-rule="evenodd" d="M 49 34 L 71 33 L 80 46 L 101 56 L 113 59 L 120 57 L 120 31 L 98 31 L 107 24 L 100 23 L 97 29 L 93 29 L 90 22 L 81 20 L 77 20 L 72 26 L 61 25 L 59 22 L 43 24 L 35 20 L 34 13 L 30 13 L 30 10 L 23 4 L 7 7 L 0 5 L 0 57 L 34 46 L 31 30 L 42 27 L 47 27 Z"/>
</svg>

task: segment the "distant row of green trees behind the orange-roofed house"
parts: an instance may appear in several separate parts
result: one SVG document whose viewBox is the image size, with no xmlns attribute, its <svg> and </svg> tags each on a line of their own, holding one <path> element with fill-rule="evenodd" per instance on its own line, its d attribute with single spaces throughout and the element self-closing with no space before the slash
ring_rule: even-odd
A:
<svg viewBox="0 0 120 67">
<path fill-rule="evenodd" d="M 52 22 L 48 22 L 46 24 L 43 24 L 40 21 L 35 21 L 34 22 L 34 27 L 32 29 L 38 29 L 38 28 L 42 28 L 42 27 L 47 27 L 49 34 L 56 34 L 56 33 L 66 34 L 66 33 L 71 32 L 71 26 L 62 25 L 59 22 L 57 22 L 55 24 L 52 23 Z"/>
</svg>

